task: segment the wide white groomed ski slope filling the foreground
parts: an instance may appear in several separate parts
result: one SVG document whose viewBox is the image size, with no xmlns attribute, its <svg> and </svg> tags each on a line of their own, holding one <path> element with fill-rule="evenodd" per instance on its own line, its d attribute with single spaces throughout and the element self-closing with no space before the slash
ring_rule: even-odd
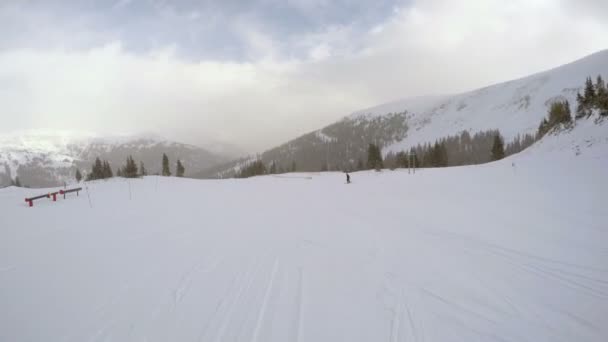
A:
<svg viewBox="0 0 608 342">
<path fill-rule="evenodd" d="M 2 189 L 0 341 L 606 341 L 608 144 L 562 138 L 350 185 Z"/>
</svg>

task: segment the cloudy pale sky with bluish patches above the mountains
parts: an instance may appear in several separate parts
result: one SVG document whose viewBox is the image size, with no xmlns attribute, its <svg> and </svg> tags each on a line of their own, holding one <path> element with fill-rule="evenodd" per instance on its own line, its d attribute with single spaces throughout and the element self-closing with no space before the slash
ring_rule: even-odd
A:
<svg viewBox="0 0 608 342">
<path fill-rule="evenodd" d="M 2 0 L 0 133 L 252 152 L 608 48 L 605 0 Z"/>
</svg>

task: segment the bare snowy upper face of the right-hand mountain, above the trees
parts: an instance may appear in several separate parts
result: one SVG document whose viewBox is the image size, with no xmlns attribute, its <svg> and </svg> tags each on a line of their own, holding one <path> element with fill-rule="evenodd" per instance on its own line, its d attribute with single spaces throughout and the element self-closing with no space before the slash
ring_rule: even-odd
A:
<svg viewBox="0 0 608 342">
<path fill-rule="evenodd" d="M 576 93 L 585 79 L 608 78 L 608 50 L 532 76 L 471 92 L 406 99 L 358 111 L 351 117 L 373 118 L 408 112 L 408 132 L 402 141 L 386 146 L 399 151 L 418 143 L 470 132 L 499 129 L 510 141 L 517 134 L 535 133 L 550 104 L 568 100 L 574 111 Z"/>
</svg>

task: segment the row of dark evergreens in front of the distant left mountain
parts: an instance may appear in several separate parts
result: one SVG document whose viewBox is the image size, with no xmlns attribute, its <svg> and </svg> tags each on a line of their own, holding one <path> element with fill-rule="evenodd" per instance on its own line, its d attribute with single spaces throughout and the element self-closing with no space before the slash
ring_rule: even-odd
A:
<svg viewBox="0 0 608 342">
<path fill-rule="evenodd" d="M 186 172 L 186 168 L 184 164 L 178 159 L 175 166 L 175 175 L 177 177 L 183 177 Z M 169 157 L 165 153 L 162 156 L 162 172 L 163 176 L 171 176 L 171 170 L 169 169 Z M 133 159 L 132 156 L 128 156 L 125 165 L 116 169 L 116 177 L 124 177 L 124 178 L 137 178 L 148 175 L 148 170 L 146 169 L 144 162 L 139 162 L 139 167 Z M 76 173 L 74 175 L 77 182 L 80 182 L 83 179 L 82 173 L 80 169 L 76 169 Z M 97 179 L 108 179 L 114 177 L 114 172 L 112 171 L 112 167 L 107 160 L 101 160 L 99 157 L 95 158 L 95 162 L 91 166 L 91 171 L 87 174 L 86 180 L 92 181 Z"/>
</svg>

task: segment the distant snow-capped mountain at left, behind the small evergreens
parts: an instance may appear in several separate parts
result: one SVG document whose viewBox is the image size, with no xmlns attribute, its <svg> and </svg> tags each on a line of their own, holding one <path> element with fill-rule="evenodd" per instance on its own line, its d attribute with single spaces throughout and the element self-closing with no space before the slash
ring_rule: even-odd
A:
<svg viewBox="0 0 608 342">
<path fill-rule="evenodd" d="M 23 185 L 48 187 L 74 179 L 76 168 L 88 171 L 96 157 L 108 160 L 114 172 L 132 155 L 150 174 L 160 172 L 166 153 L 174 168 L 180 159 L 186 175 L 200 172 L 224 157 L 203 148 L 156 135 L 104 137 L 82 132 L 27 131 L 0 136 L 0 187 L 19 176 Z"/>
</svg>

